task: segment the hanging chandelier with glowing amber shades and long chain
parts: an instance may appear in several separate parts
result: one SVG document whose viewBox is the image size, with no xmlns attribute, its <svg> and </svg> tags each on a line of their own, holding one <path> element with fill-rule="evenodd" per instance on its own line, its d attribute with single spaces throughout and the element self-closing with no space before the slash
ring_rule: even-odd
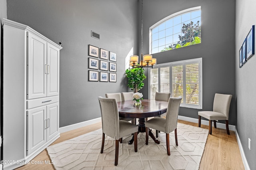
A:
<svg viewBox="0 0 256 170">
<path fill-rule="evenodd" d="M 143 45 L 143 0 L 141 0 L 141 60 L 139 62 L 138 55 L 130 56 L 130 66 L 132 66 L 132 68 L 137 68 L 137 67 L 153 68 L 153 65 L 156 64 L 156 58 L 153 58 L 151 54 L 143 55 L 142 45 Z"/>
</svg>

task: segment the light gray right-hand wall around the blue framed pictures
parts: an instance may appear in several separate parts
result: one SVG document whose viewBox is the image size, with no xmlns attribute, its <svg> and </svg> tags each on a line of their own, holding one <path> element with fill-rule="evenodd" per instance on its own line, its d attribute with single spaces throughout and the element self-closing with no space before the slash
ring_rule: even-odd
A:
<svg viewBox="0 0 256 170">
<path fill-rule="evenodd" d="M 251 170 L 256 169 L 256 55 L 239 68 L 239 49 L 252 25 L 256 25 L 255 9 L 256 1 L 236 0 L 236 128 Z M 248 148 L 248 138 L 251 139 L 251 150 Z"/>
</svg>

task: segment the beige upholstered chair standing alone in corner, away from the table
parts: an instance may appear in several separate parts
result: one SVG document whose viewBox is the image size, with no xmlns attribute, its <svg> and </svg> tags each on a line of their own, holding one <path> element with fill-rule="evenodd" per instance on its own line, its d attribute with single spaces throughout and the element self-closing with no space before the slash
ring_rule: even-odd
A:
<svg viewBox="0 0 256 170">
<path fill-rule="evenodd" d="M 201 127 L 201 117 L 209 120 L 209 134 L 212 134 L 212 121 L 214 121 L 214 128 L 216 128 L 217 120 L 226 120 L 226 130 L 230 134 L 228 128 L 228 115 L 232 95 L 215 93 L 212 111 L 198 112 L 198 127 Z"/>
</svg>

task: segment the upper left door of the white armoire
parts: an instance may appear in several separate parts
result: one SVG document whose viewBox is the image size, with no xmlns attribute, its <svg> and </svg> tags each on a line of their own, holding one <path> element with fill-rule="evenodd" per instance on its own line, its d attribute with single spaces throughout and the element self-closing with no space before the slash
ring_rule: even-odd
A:
<svg viewBox="0 0 256 170">
<path fill-rule="evenodd" d="M 28 32 L 28 99 L 46 97 L 47 43 Z"/>
</svg>

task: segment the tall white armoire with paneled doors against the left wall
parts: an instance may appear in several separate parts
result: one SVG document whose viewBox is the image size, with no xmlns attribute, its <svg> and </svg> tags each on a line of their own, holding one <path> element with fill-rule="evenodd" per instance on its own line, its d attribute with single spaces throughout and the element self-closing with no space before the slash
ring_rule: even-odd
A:
<svg viewBox="0 0 256 170">
<path fill-rule="evenodd" d="M 22 166 L 60 136 L 60 49 L 32 28 L 4 19 L 4 169 Z"/>
</svg>

